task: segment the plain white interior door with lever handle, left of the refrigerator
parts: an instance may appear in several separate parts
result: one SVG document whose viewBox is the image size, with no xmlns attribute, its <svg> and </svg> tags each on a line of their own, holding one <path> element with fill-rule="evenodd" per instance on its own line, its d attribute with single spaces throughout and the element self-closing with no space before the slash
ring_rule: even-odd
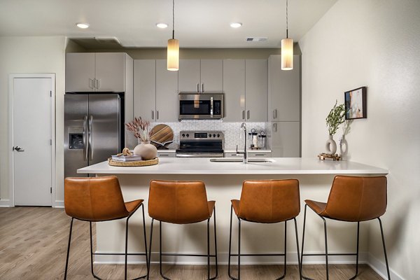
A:
<svg viewBox="0 0 420 280">
<path fill-rule="evenodd" d="M 13 78 L 15 205 L 51 206 L 52 85 L 52 78 Z"/>
</svg>

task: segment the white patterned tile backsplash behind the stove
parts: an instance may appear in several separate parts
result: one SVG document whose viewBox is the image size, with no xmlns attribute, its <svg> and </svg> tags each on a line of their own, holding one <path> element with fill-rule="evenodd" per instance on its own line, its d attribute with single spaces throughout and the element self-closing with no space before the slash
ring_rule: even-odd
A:
<svg viewBox="0 0 420 280">
<path fill-rule="evenodd" d="M 151 123 L 151 127 L 158 124 L 160 123 Z M 221 131 L 225 134 L 225 150 L 235 150 L 237 145 L 240 150 L 244 147 L 244 132 L 241 132 L 241 123 L 223 123 L 223 120 L 181 120 L 178 123 L 165 123 L 165 125 L 169 125 L 174 131 L 174 143 L 168 148 L 178 148 L 179 132 L 183 130 Z M 269 135 L 267 130 L 271 127 L 269 123 L 246 123 L 247 132 L 251 132 L 252 128 L 255 128 L 256 132 L 264 130 L 265 134 Z M 265 148 L 269 148 L 268 143 Z"/>
</svg>

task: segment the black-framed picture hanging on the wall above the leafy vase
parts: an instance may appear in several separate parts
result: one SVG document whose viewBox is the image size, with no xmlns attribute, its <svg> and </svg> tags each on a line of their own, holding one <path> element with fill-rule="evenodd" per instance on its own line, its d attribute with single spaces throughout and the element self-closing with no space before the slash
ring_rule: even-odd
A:
<svg viewBox="0 0 420 280">
<path fill-rule="evenodd" d="M 366 87 L 358 87 L 355 90 L 344 92 L 344 104 L 346 120 L 367 118 Z"/>
</svg>

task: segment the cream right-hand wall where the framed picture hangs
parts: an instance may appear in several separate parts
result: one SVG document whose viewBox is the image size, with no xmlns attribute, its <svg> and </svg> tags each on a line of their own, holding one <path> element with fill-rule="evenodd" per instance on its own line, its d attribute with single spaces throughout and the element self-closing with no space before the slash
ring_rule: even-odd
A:
<svg viewBox="0 0 420 280">
<path fill-rule="evenodd" d="M 339 0 L 299 44 L 302 156 L 323 151 L 325 117 L 335 99 L 343 103 L 344 91 L 367 86 L 367 119 L 354 120 L 346 136 L 349 158 L 389 169 L 388 258 L 402 279 L 418 279 L 420 1 Z M 370 222 L 369 252 L 371 264 L 384 268 L 377 262 L 384 257 L 376 221 Z"/>
</svg>

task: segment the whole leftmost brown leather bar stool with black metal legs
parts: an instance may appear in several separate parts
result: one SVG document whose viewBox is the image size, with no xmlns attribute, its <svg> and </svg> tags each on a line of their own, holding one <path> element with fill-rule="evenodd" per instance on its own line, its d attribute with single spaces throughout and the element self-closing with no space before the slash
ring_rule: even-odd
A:
<svg viewBox="0 0 420 280">
<path fill-rule="evenodd" d="M 64 280 L 67 277 L 67 266 L 69 264 L 69 253 L 71 244 L 71 230 L 73 220 L 89 222 L 90 226 L 90 270 L 92 276 L 100 279 L 93 272 L 93 255 L 125 255 L 124 279 L 127 279 L 127 255 L 145 255 L 148 263 L 146 247 L 146 226 L 144 223 L 144 200 L 124 202 L 121 193 L 120 183 L 116 176 L 104 176 L 96 178 L 66 178 L 64 180 L 64 208 L 66 214 L 71 217 L 69 246 L 67 247 L 66 270 Z M 141 207 L 143 211 L 143 233 L 145 253 L 127 253 L 128 220 L 134 212 Z M 125 253 L 93 253 L 92 246 L 92 222 L 113 221 L 127 218 L 125 221 Z M 148 268 L 148 266 L 147 266 Z M 145 278 L 140 276 L 136 279 Z"/>
</svg>

